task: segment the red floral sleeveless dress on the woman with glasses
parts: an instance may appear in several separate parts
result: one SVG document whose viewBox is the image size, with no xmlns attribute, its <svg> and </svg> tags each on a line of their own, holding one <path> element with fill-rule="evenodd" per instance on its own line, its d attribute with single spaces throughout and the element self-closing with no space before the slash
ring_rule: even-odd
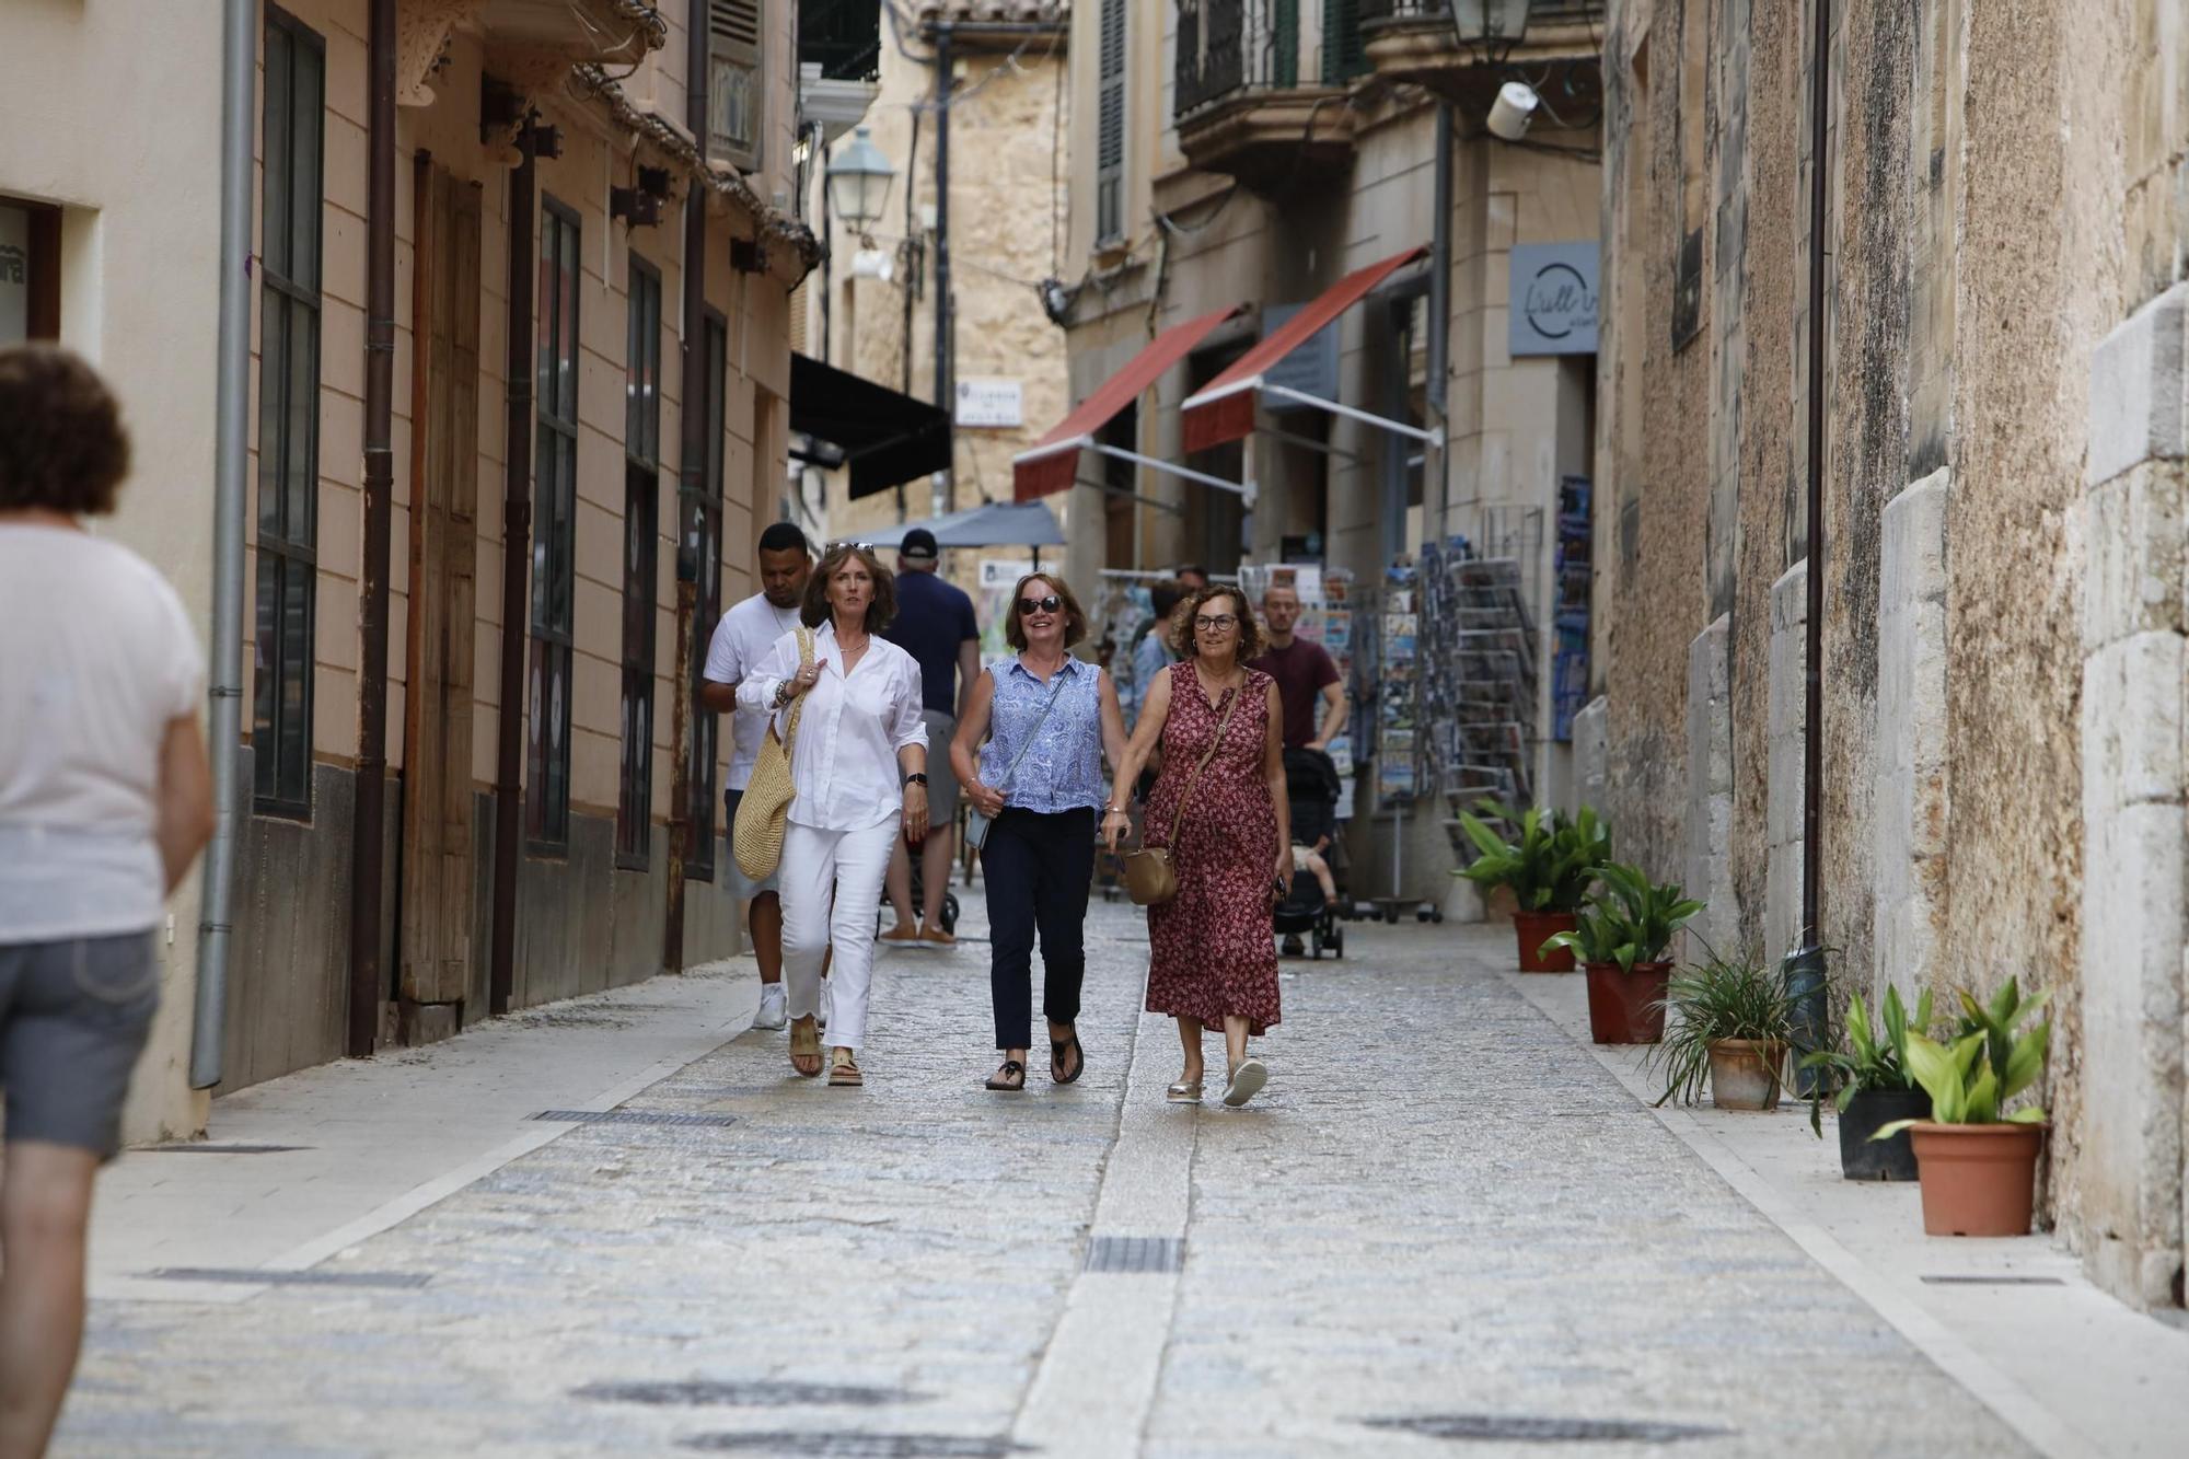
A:
<svg viewBox="0 0 2189 1459">
<path fill-rule="evenodd" d="M 1261 1034 L 1278 1021 L 1276 935 L 1270 924 L 1270 878 L 1276 874 L 1276 813 L 1263 780 L 1270 734 L 1270 675 L 1250 668 L 1246 686 L 1217 705 L 1202 692 L 1193 664 L 1171 664 L 1171 712 L 1162 723 L 1162 771 L 1147 795 L 1143 828 L 1149 846 L 1171 835 L 1178 795 L 1208 754 L 1232 692 L 1246 694 L 1224 727 L 1208 769 L 1186 800 L 1171 865 L 1178 896 L 1147 909 L 1147 1010 L 1224 1027 L 1243 1014 Z"/>
</svg>

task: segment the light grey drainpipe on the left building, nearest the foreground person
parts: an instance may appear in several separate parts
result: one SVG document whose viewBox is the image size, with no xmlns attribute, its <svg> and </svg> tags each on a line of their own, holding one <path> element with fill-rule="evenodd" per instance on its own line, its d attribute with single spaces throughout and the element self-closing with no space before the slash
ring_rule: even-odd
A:
<svg viewBox="0 0 2189 1459">
<path fill-rule="evenodd" d="M 228 949 L 236 900 L 236 765 L 243 745 L 243 530 L 250 506 L 252 397 L 252 110 L 258 101 L 258 4 L 221 7 L 221 331 L 212 414 L 212 846 L 197 918 L 190 1089 L 221 1082 Z"/>
</svg>

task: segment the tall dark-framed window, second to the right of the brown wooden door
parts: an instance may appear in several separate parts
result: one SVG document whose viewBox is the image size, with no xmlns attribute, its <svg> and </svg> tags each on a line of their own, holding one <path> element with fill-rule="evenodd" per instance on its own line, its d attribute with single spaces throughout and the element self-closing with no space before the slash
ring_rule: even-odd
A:
<svg viewBox="0 0 2189 1459">
<path fill-rule="evenodd" d="M 624 754 L 615 861 L 644 870 L 652 852 L 655 583 L 661 561 L 661 274 L 630 254 L 624 348 Z"/>
</svg>

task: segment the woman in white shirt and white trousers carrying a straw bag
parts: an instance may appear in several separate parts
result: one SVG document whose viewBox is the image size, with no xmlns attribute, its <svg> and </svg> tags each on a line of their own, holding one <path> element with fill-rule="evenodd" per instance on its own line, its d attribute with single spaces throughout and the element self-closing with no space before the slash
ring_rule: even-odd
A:
<svg viewBox="0 0 2189 1459">
<path fill-rule="evenodd" d="M 738 703 L 786 716 L 806 697 L 790 747 L 784 861 L 784 984 L 790 1067 L 821 1073 L 821 960 L 830 975 L 830 1084 L 862 1084 L 858 1047 L 873 988 L 876 907 L 900 830 L 928 835 L 928 730 L 919 721 L 919 662 L 880 635 L 897 611 L 895 578 L 873 548 L 836 543 L 806 583 L 799 620 L 812 664 L 784 633 L 738 683 Z M 834 896 L 834 907 L 832 907 Z"/>
</svg>

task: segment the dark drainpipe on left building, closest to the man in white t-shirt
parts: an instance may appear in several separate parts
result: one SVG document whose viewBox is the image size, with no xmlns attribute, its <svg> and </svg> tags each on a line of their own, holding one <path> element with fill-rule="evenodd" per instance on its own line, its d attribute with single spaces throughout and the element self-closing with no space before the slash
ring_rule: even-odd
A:
<svg viewBox="0 0 2189 1459">
<path fill-rule="evenodd" d="M 685 123 L 707 145 L 707 31 L 685 26 Z M 707 188 L 685 186 L 683 256 L 683 445 L 676 460 L 676 679 L 670 721 L 670 889 L 661 920 L 661 970 L 683 973 L 685 861 L 692 857 L 692 694 L 700 657 L 692 620 L 698 613 L 698 561 L 705 532 L 694 532 L 707 495 Z M 757 502 L 755 502 L 757 508 Z M 711 627 L 711 624 L 709 624 Z M 707 817 L 709 826 L 714 815 Z"/>
</svg>

